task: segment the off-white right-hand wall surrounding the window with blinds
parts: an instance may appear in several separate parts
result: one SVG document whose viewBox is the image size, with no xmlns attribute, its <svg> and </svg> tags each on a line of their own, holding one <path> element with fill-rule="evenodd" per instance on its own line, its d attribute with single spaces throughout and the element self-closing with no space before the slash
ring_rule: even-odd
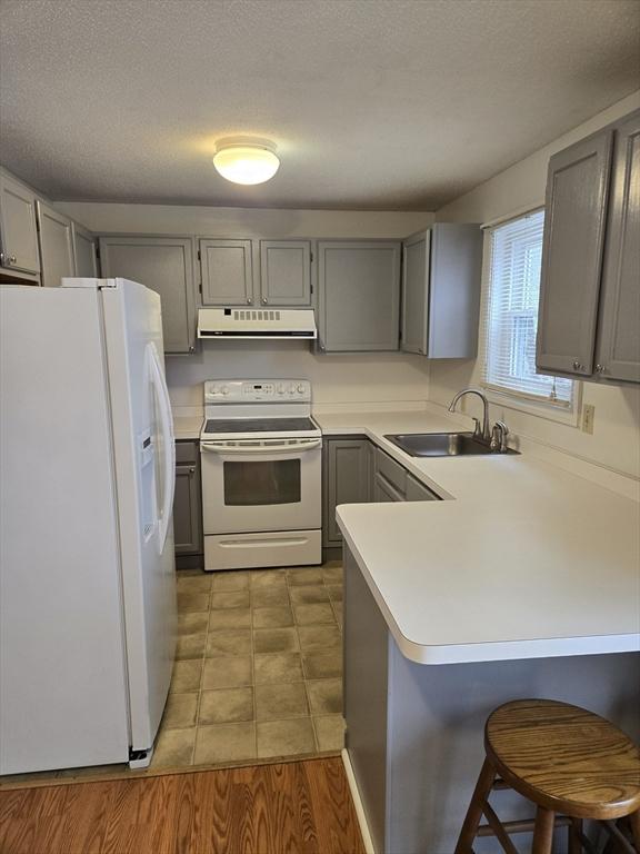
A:
<svg viewBox="0 0 640 854">
<path fill-rule="evenodd" d="M 640 91 L 441 208 L 437 212 L 437 219 L 447 222 L 487 224 L 540 207 L 544 202 L 549 157 L 638 107 Z M 479 383 L 480 378 L 480 360 L 432 361 L 429 398 L 434 403 L 448 403 L 457 390 Z M 592 436 L 582 433 L 579 427 L 558 424 L 513 409 L 504 409 L 504 418 L 517 434 L 639 477 L 640 389 L 606 388 L 593 383 L 584 383 L 582 386 L 582 403 L 596 407 Z M 470 403 L 470 411 L 473 411 L 473 406 L 474 404 Z M 492 417 L 500 417 L 501 411 L 500 407 L 492 407 Z"/>
</svg>

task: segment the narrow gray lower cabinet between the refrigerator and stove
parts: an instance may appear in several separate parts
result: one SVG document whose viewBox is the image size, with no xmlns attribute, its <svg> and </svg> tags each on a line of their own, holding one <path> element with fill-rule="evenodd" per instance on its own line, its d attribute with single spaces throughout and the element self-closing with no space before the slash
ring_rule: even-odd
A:
<svg viewBox="0 0 640 854">
<path fill-rule="evenodd" d="M 178 558 L 197 558 L 203 554 L 202 489 L 197 441 L 176 443 L 173 537 Z"/>
</svg>

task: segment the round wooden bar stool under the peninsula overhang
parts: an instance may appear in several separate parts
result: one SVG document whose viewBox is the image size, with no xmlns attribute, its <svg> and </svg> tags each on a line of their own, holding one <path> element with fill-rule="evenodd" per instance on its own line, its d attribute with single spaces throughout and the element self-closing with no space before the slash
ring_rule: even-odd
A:
<svg viewBox="0 0 640 854">
<path fill-rule="evenodd" d="M 533 831 L 532 854 L 551 854 L 553 830 L 567 826 L 570 854 L 594 851 L 582 820 L 603 822 L 617 851 L 640 852 L 640 751 L 603 717 L 552 699 L 517 699 L 489 715 L 487 758 L 456 846 L 473 854 L 477 836 L 496 836 L 518 854 L 510 834 Z M 492 790 L 512 788 L 531 801 L 536 818 L 500 822 Z M 480 825 L 484 816 L 487 824 Z M 616 824 L 629 816 L 636 847 Z"/>
</svg>

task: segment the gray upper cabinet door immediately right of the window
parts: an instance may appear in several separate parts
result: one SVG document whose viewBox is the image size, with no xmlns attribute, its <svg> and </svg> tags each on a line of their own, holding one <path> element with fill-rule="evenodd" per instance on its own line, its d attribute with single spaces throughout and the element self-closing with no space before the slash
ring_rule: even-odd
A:
<svg viewBox="0 0 640 854">
<path fill-rule="evenodd" d="M 604 245 L 613 131 L 549 161 L 536 364 L 590 376 Z"/>
</svg>

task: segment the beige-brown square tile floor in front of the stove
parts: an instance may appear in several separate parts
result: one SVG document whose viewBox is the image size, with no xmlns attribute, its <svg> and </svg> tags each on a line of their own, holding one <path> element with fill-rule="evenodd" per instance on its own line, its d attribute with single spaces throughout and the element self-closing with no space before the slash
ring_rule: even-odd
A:
<svg viewBox="0 0 640 854">
<path fill-rule="evenodd" d="M 343 745 L 342 568 L 179 572 L 178 653 L 151 768 Z"/>
</svg>

